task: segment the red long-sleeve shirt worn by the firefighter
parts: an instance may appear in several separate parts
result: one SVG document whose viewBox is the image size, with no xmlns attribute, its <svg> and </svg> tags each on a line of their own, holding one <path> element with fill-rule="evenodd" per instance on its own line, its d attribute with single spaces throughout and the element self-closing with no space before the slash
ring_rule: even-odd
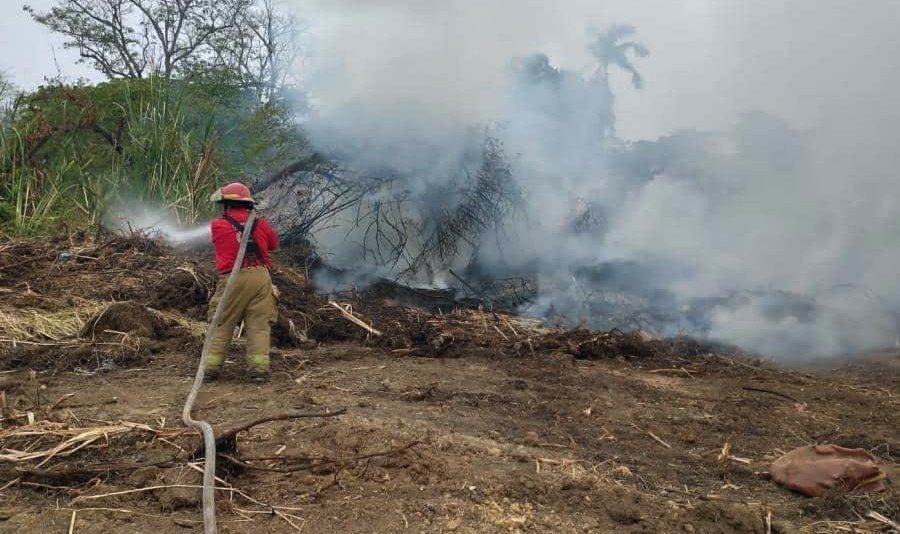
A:
<svg viewBox="0 0 900 534">
<path fill-rule="evenodd" d="M 241 225 L 245 224 L 250 216 L 250 210 L 243 208 L 228 208 L 226 213 Z M 216 270 L 220 274 L 228 274 L 234 266 L 234 260 L 237 258 L 237 252 L 241 246 L 241 234 L 224 217 L 213 219 L 209 225 L 209 230 L 210 234 L 212 234 L 213 248 L 216 253 Z M 256 242 L 257 257 L 250 258 L 248 257 L 249 254 L 246 254 L 241 267 L 262 265 L 266 269 L 272 270 L 272 259 L 269 257 L 269 251 L 278 248 L 278 234 L 272 230 L 269 221 L 261 217 L 256 219 L 253 240 Z"/>
</svg>

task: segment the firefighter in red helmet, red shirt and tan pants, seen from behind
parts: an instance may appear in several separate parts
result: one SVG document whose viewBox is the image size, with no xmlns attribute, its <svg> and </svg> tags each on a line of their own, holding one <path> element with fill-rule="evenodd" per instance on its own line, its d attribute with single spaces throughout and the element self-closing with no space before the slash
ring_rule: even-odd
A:
<svg viewBox="0 0 900 534">
<path fill-rule="evenodd" d="M 241 183 L 231 183 L 213 193 L 211 200 L 222 205 L 222 215 L 210 223 L 212 244 L 216 254 L 216 270 L 219 282 L 210 300 L 209 317 L 225 291 L 225 283 L 234 266 L 240 248 L 244 223 L 250 216 L 255 202 L 250 189 Z M 278 248 L 278 235 L 264 218 L 257 218 L 251 229 L 250 240 L 244 254 L 241 270 L 236 275 L 234 288 L 224 304 L 219 324 L 213 333 L 206 376 L 210 380 L 218 377 L 219 369 L 225 361 L 228 346 L 234 335 L 234 328 L 244 322 L 247 336 L 247 367 L 250 380 L 265 382 L 269 379 L 269 338 L 271 325 L 276 318 L 276 302 L 272 278 L 272 260 L 269 252 Z"/>
</svg>

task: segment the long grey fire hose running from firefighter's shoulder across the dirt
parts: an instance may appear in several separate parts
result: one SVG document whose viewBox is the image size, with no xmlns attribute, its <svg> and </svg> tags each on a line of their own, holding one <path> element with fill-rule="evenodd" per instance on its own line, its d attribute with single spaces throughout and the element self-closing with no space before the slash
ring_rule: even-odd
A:
<svg viewBox="0 0 900 534">
<path fill-rule="evenodd" d="M 197 421 L 191 417 L 191 409 L 194 401 L 197 400 L 197 394 L 200 393 L 200 386 L 203 385 L 203 375 L 206 372 L 206 361 L 209 359 L 209 347 L 212 345 L 213 334 L 219 327 L 219 318 L 225 303 L 231 296 L 234 288 L 234 281 L 237 273 L 241 270 L 241 264 L 244 262 L 244 253 L 247 251 L 247 243 L 250 241 L 250 234 L 253 229 L 253 221 L 256 219 L 256 212 L 251 211 L 247 222 L 244 223 L 244 231 L 241 235 L 241 245 L 238 248 L 237 257 L 234 260 L 234 267 L 228 275 L 228 281 L 225 282 L 225 290 L 222 292 L 222 298 L 216 306 L 212 320 L 206 330 L 206 339 L 203 340 L 203 350 L 200 352 L 200 363 L 197 366 L 197 374 L 194 376 L 194 385 L 188 398 L 184 403 L 184 410 L 181 412 L 181 420 L 184 424 L 196 428 L 203 434 L 204 446 L 204 465 L 203 465 L 203 534 L 216 534 L 216 436 L 213 433 L 212 426 L 206 421 Z"/>
</svg>

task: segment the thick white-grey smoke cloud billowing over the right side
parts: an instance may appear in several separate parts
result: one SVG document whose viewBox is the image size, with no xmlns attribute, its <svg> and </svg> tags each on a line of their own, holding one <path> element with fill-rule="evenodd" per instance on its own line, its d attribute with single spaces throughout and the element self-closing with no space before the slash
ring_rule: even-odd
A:
<svg viewBox="0 0 900 534">
<path fill-rule="evenodd" d="M 648 292 L 704 308 L 708 335 L 751 350 L 893 344 L 900 9 L 675 4 L 295 2 L 316 39 L 308 130 L 425 191 L 468 149 L 471 125 L 496 125 L 531 222 L 482 260 L 536 267 L 541 305 L 570 319 L 593 313 L 571 305 L 586 291 L 575 274 L 617 261 L 640 266 Z M 651 56 L 635 62 L 644 91 L 612 68 L 613 98 L 587 29 L 615 22 L 638 26 Z M 557 82 L 523 81 L 536 53 Z M 617 137 L 603 131 L 611 111 Z M 596 224 L 575 229 L 585 213 Z"/>
</svg>

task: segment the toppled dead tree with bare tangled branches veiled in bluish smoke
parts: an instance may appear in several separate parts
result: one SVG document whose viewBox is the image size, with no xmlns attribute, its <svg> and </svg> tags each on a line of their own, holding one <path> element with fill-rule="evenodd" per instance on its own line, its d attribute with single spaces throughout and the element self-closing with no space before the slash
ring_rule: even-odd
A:
<svg viewBox="0 0 900 534">
<path fill-rule="evenodd" d="M 329 225 L 346 225 L 364 262 L 406 278 L 428 278 L 460 254 L 471 261 L 483 236 L 506 221 L 522 194 L 503 144 L 492 136 L 485 136 L 477 163 L 461 164 L 458 179 L 448 186 L 453 194 L 441 196 L 442 204 L 412 187 L 417 179 L 350 170 L 311 154 L 263 177 L 254 190 L 280 183 L 293 195 L 288 213 L 278 215 L 286 243 Z"/>
</svg>

